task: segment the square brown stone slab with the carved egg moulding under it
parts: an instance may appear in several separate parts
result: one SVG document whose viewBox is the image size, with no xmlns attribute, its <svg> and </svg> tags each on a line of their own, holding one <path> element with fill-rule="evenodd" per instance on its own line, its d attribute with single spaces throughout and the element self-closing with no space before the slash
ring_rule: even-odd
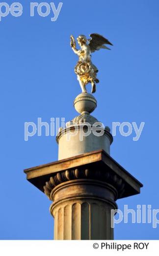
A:
<svg viewBox="0 0 159 256">
<path fill-rule="evenodd" d="M 104 150 L 58 160 L 25 170 L 27 180 L 49 196 L 58 184 L 69 180 L 97 179 L 117 188 L 118 198 L 140 193 L 143 185 Z M 90 176 L 89 176 L 90 175 Z M 51 178 L 52 177 L 52 178 Z M 124 185 L 122 185 L 124 184 Z M 118 188 L 119 186 L 119 188 Z M 123 189 L 120 186 L 124 186 Z"/>
</svg>

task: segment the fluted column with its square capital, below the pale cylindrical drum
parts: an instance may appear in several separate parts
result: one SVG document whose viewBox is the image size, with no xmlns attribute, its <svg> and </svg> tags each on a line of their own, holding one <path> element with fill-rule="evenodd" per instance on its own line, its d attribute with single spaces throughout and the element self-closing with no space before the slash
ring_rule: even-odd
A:
<svg viewBox="0 0 159 256">
<path fill-rule="evenodd" d="M 25 170 L 53 201 L 54 239 L 113 239 L 111 210 L 142 184 L 103 150 Z"/>
</svg>

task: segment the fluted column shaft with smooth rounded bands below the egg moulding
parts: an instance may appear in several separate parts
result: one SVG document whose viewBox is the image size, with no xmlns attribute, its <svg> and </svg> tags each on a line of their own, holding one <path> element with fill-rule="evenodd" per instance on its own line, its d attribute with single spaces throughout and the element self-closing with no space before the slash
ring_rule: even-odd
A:
<svg viewBox="0 0 159 256">
<path fill-rule="evenodd" d="M 117 191 L 106 182 L 78 179 L 57 185 L 51 192 L 54 239 L 113 239 L 111 209 Z"/>
</svg>

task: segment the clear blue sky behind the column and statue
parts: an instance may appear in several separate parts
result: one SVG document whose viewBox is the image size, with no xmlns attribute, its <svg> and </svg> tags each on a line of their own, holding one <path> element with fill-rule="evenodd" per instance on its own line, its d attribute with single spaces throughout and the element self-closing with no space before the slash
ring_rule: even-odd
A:
<svg viewBox="0 0 159 256">
<path fill-rule="evenodd" d="M 0 239 L 53 238 L 51 201 L 26 181 L 23 169 L 57 160 L 57 144 L 45 130 L 26 142 L 24 123 L 77 115 L 73 100 L 80 88 L 70 34 L 98 32 L 114 45 L 92 57 L 100 79 L 94 116 L 110 128 L 112 122 L 145 122 L 138 141 L 134 132 L 117 132 L 111 146 L 111 157 L 144 184 L 141 194 L 118 200 L 119 209 L 159 209 L 159 1 L 63 0 L 56 22 L 53 15 L 30 17 L 30 1 L 20 2 L 23 15 L 0 22 Z M 121 223 L 114 234 L 159 239 L 159 227 Z"/>
</svg>

